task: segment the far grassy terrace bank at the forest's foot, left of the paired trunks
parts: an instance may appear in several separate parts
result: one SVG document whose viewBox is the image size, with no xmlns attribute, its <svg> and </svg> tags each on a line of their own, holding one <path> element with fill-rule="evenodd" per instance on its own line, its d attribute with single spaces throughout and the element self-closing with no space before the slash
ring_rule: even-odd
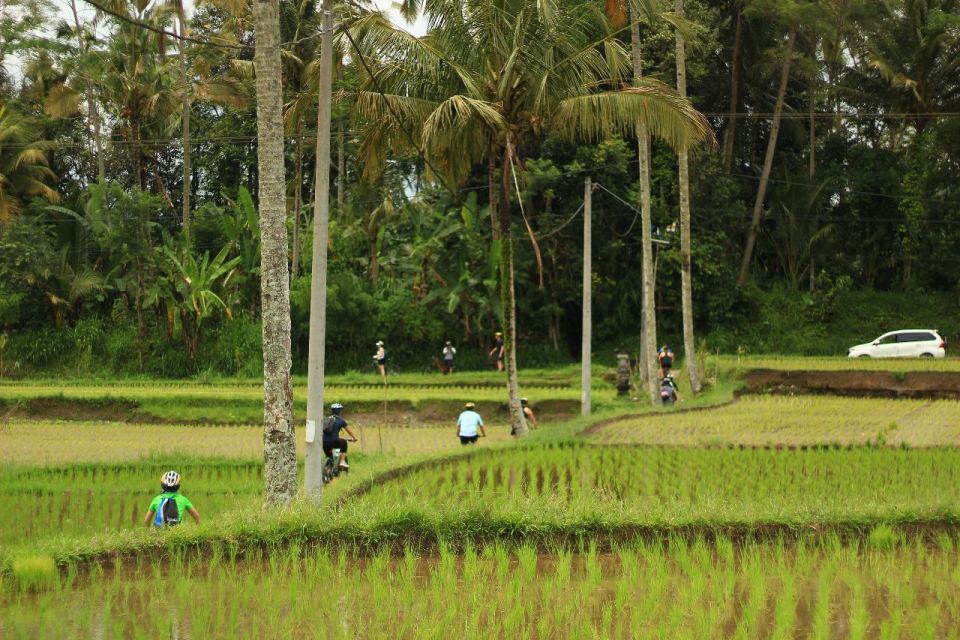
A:
<svg viewBox="0 0 960 640">
<path fill-rule="evenodd" d="M 534 405 L 553 413 L 570 414 L 580 400 L 579 377 L 569 368 L 524 371 L 521 389 Z M 616 391 L 597 368 L 593 385 L 598 407 L 616 405 Z M 577 373 L 579 376 L 579 373 Z M 263 385 L 256 380 L 228 381 L 61 381 L 29 380 L 0 383 L 0 412 L 17 417 L 74 417 L 93 420 L 259 424 L 263 419 Z M 405 374 L 384 385 L 372 374 L 331 376 L 327 402 L 340 401 L 353 413 L 383 412 L 384 421 L 397 413 L 456 416 L 467 400 L 488 415 L 505 413 L 504 378 L 496 372 Z M 306 381 L 295 380 L 294 409 L 306 411 Z M 379 418 L 378 418 L 379 419 Z"/>
</svg>

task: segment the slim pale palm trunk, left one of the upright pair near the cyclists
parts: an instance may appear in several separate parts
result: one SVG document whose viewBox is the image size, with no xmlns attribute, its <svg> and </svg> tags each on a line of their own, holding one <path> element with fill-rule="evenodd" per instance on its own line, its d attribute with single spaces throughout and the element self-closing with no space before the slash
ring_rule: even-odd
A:
<svg viewBox="0 0 960 640">
<path fill-rule="evenodd" d="M 640 25 L 637 23 L 633 4 L 630 4 L 630 53 L 633 59 L 633 78 L 639 84 L 643 77 L 643 58 L 640 53 Z M 637 159 L 640 163 L 640 226 L 643 254 L 643 302 L 641 303 L 641 358 L 640 366 L 647 381 L 650 402 L 656 404 L 660 397 L 657 379 L 657 312 L 654 293 L 656 283 L 653 274 L 653 234 L 650 214 L 650 131 L 646 123 L 637 126 Z"/>
</svg>

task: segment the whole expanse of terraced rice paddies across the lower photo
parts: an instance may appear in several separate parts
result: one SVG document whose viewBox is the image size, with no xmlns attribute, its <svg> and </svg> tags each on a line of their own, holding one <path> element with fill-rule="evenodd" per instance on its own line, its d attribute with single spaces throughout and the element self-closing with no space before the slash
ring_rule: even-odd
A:
<svg viewBox="0 0 960 640">
<path fill-rule="evenodd" d="M 338 380 L 351 472 L 279 512 L 256 382 L 0 384 L 0 638 L 960 637 L 957 400 L 528 381 L 514 443 L 487 374 Z M 148 531 L 168 468 L 203 522 Z"/>
</svg>

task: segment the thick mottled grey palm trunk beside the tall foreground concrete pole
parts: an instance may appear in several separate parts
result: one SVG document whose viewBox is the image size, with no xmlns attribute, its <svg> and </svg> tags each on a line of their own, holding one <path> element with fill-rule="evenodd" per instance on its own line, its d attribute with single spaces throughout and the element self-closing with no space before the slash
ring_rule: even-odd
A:
<svg viewBox="0 0 960 640">
<path fill-rule="evenodd" d="M 254 21 L 263 318 L 264 500 L 269 505 L 279 505 L 289 502 L 297 489 L 293 387 L 290 381 L 290 281 L 285 224 L 279 0 L 257 0 Z"/>
</svg>

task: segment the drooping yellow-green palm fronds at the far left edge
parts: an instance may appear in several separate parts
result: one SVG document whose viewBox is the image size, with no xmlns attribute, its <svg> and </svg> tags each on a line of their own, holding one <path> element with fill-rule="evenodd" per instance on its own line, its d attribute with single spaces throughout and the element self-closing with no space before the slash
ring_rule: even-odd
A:
<svg viewBox="0 0 960 640">
<path fill-rule="evenodd" d="M 0 104 L 0 227 L 31 198 L 60 201 L 50 186 L 57 177 L 32 132 L 25 118 Z"/>
</svg>

